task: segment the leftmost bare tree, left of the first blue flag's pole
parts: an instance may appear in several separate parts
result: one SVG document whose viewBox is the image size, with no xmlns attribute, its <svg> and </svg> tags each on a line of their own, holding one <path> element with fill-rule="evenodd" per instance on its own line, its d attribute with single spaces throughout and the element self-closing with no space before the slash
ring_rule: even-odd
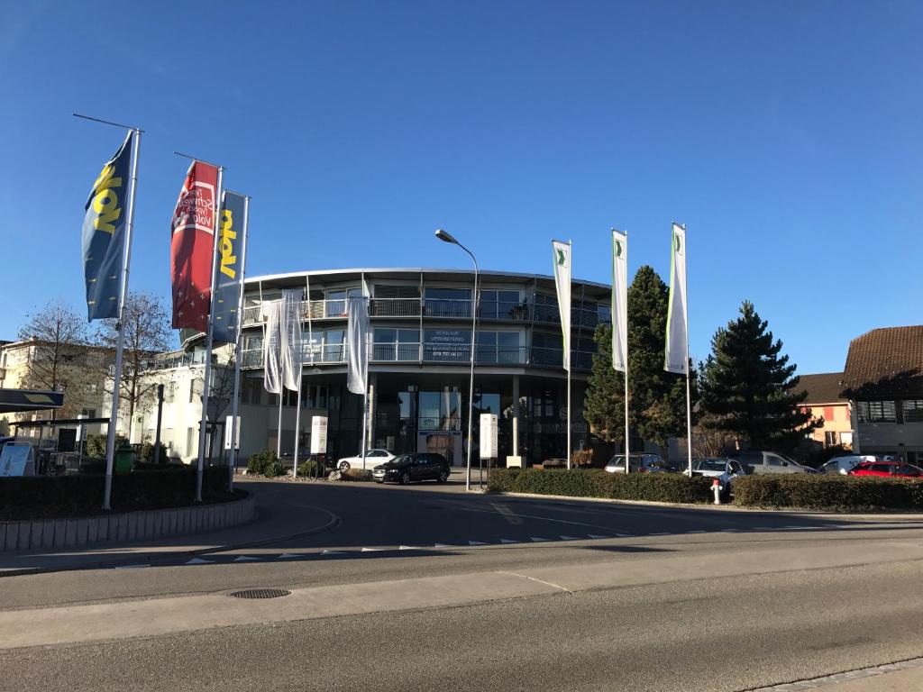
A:
<svg viewBox="0 0 923 692">
<path fill-rule="evenodd" d="M 94 383 L 88 336 L 87 322 L 61 301 L 29 315 L 19 329 L 19 340 L 29 342 L 25 386 L 64 392 L 66 417 L 82 410 Z"/>
</svg>

